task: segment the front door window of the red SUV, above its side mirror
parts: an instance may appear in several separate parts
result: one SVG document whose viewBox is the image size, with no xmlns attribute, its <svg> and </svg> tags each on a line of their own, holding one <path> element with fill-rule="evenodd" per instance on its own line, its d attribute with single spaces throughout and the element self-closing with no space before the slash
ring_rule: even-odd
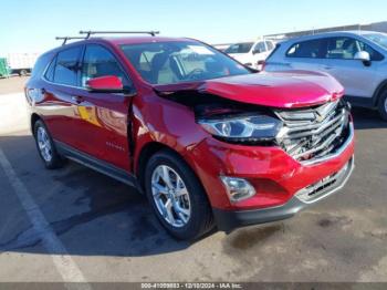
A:
<svg viewBox="0 0 387 290">
<path fill-rule="evenodd" d="M 87 45 L 82 65 L 82 86 L 86 86 L 90 79 L 105 75 L 118 76 L 124 87 L 132 87 L 117 60 L 107 49 L 97 44 Z"/>
</svg>

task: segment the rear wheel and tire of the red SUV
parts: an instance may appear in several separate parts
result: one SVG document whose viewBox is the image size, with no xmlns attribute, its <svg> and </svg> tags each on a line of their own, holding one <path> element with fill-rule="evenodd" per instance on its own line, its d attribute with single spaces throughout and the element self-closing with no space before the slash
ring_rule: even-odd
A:
<svg viewBox="0 0 387 290">
<path fill-rule="evenodd" d="M 48 127 L 41 120 L 38 120 L 33 126 L 33 136 L 39 156 L 43 160 L 45 168 L 55 169 L 62 167 L 63 159 L 55 148 Z"/>
</svg>

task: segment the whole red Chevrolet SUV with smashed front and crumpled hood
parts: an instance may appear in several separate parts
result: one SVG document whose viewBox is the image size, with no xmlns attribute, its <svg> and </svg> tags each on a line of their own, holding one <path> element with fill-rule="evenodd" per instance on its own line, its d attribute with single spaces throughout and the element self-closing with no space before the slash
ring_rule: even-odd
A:
<svg viewBox="0 0 387 290">
<path fill-rule="evenodd" d="M 40 56 L 25 95 L 48 168 L 69 158 L 137 186 L 180 239 L 289 218 L 354 167 L 335 79 L 255 73 L 191 39 L 62 45 Z"/>
</svg>

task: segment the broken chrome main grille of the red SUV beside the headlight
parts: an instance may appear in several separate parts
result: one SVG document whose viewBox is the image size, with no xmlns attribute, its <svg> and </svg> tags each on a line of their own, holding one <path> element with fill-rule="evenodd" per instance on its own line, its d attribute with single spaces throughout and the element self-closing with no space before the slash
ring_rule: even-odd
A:
<svg viewBox="0 0 387 290">
<path fill-rule="evenodd" d="M 278 143 L 301 163 L 334 154 L 349 135 L 349 110 L 343 101 L 275 113 L 284 123 Z"/>
</svg>

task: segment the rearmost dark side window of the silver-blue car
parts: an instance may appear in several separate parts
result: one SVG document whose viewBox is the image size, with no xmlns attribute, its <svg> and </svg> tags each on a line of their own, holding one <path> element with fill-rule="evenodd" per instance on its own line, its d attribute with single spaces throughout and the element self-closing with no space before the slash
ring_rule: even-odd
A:
<svg viewBox="0 0 387 290">
<path fill-rule="evenodd" d="M 286 52 L 289 58 L 325 59 L 326 39 L 308 40 L 293 44 Z"/>
</svg>

